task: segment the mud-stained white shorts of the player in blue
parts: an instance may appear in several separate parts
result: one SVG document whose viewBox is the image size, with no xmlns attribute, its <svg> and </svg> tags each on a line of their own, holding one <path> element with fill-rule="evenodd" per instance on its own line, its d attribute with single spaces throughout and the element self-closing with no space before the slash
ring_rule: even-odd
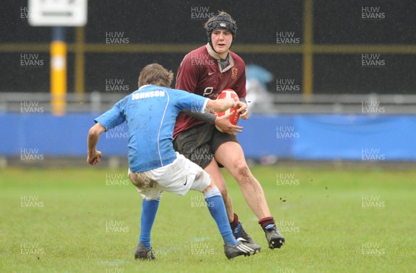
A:
<svg viewBox="0 0 416 273">
<path fill-rule="evenodd" d="M 202 192 L 211 184 L 211 177 L 205 170 L 178 152 L 171 164 L 141 173 L 132 173 L 129 168 L 128 177 L 144 200 L 156 200 L 163 191 L 177 195 L 189 190 Z"/>
</svg>

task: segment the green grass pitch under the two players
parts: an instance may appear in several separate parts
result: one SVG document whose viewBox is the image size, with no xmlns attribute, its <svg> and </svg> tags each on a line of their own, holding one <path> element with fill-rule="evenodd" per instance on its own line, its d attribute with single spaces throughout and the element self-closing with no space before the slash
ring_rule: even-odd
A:
<svg viewBox="0 0 416 273">
<path fill-rule="evenodd" d="M 164 193 L 156 261 L 135 261 L 141 197 L 126 170 L 0 172 L 0 272 L 415 272 L 416 171 L 254 167 L 286 238 L 268 249 L 239 186 L 234 209 L 261 245 L 227 260 L 201 193 Z"/>
</svg>

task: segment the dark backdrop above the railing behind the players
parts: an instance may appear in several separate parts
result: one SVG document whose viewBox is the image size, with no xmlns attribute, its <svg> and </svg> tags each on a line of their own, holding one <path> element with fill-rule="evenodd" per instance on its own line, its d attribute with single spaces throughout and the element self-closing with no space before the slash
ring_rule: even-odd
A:
<svg viewBox="0 0 416 273">
<path fill-rule="evenodd" d="M 304 76 L 311 73 L 313 94 L 416 94 L 416 1 L 411 0 L 90 0 L 87 25 L 66 28 L 69 93 L 105 92 L 114 79 L 133 91 L 139 71 L 150 62 L 176 72 L 187 52 L 205 44 L 202 24 L 218 10 L 237 21 L 232 50 L 246 64 L 272 73 L 268 91 L 276 93 L 277 80 L 288 79 L 302 93 Z M 29 26 L 30 12 L 27 1 L 2 5 L 0 92 L 49 91 L 51 28 Z M 305 15 L 312 15 L 310 25 Z M 309 42 L 305 25 L 312 26 Z M 292 39 L 284 42 L 287 37 Z M 312 69 L 304 71 L 308 52 Z M 77 54 L 85 64 L 82 88 L 75 80 Z M 28 59 L 37 65 L 22 66 Z"/>
</svg>

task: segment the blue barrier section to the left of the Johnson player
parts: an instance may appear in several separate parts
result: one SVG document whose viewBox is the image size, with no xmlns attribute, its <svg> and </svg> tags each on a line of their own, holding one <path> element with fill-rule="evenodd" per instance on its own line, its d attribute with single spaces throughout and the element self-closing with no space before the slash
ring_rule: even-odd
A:
<svg viewBox="0 0 416 273">
<path fill-rule="evenodd" d="M 21 149 L 37 149 L 53 157 L 85 157 L 87 134 L 98 114 L 0 114 L 0 155 L 21 155 Z M 122 132 L 101 134 L 98 149 L 105 155 L 127 155 L 125 124 Z M 117 128 L 114 128 L 116 130 Z"/>
</svg>

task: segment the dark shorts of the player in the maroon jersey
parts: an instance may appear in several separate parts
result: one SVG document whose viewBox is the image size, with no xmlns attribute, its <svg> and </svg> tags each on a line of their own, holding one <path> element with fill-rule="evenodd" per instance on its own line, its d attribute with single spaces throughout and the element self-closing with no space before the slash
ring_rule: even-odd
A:
<svg viewBox="0 0 416 273">
<path fill-rule="evenodd" d="M 239 143 L 236 136 L 220 132 L 214 125 L 205 123 L 180 132 L 173 141 L 173 148 L 205 169 L 214 159 L 218 147 L 227 141 Z M 220 162 L 218 166 L 223 167 Z"/>
</svg>

